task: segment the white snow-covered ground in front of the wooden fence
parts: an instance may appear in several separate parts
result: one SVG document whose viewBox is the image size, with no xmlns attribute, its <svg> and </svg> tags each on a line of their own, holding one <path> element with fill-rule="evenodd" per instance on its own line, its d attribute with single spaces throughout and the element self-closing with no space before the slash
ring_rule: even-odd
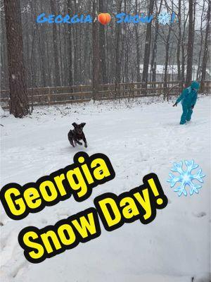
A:
<svg viewBox="0 0 211 282">
<path fill-rule="evenodd" d="M 108 155 L 116 177 L 94 188 L 91 197 L 73 197 L 21 221 L 1 207 L 1 282 L 191 282 L 210 281 L 210 97 L 200 97 L 191 123 L 179 125 L 181 106 L 159 99 L 103 102 L 34 109 L 32 116 L 1 118 L 1 187 L 23 185 L 72 164 L 79 150 Z M 72 122 L 86 122 L 88 148 L 72 148 Z M 205 173 L 198 195 L 178 197 L 167 183 L 175 161 L 193 159 Z M 40 264 L 27 262 L 18 244 L 26 226 L 43 228 L 94 207 L 104 192 L 131 190 L 147 173 L 157 173 L 169 199 L 152 223 L 124 224 L 113 232 Z"/>
</svg>

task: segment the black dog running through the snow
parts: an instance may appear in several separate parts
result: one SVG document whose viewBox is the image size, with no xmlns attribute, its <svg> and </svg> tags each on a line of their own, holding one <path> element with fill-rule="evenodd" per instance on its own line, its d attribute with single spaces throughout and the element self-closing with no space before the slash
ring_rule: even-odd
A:
<svg viewBox="0 0 211 282">
<path fill-rule="evenodd" d="M 79 140 L 84 141 L 84 146 L 87 148 L 87 139 L 83 133 L 83 128 L 86 123 L 72 123 L 74 126 L 73 130 L 70 130 L 68 133 L 68 140 L 70 141 L 70 144 L 72 147 L 75 147 L 77 144 L 82 145 L 82 142 L 79 142 Z"/>
</svg>

